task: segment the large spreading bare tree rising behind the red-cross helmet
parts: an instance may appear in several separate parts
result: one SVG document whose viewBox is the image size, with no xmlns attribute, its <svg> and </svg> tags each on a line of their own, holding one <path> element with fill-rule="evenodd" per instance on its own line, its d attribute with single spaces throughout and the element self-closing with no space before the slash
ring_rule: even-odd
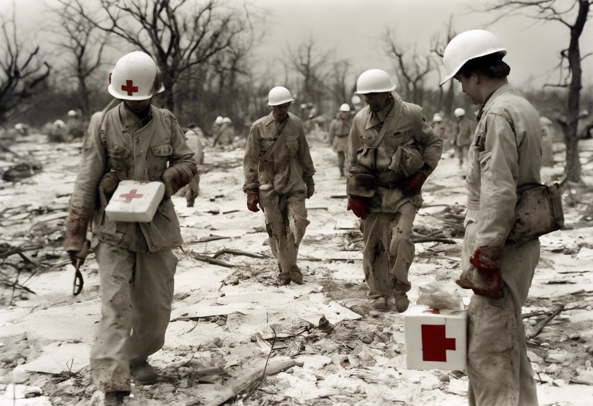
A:
<svg viewBox="0 0 593 406">
<path fill-rule="evenodd" d="M 246 29 L 240 12 L 226 11 L 216 0 L 204 4 L 189 0 L 98 0 L 100 17 L 88 11 L 83 0 L 59 1 L 70 4 L 95 27 L 152 55 L 163 74 L 165 105 L 170 110 L 175 107 L 175 86 L 181 75 L 228 49 L 234 37 Z"/>
</svg>

